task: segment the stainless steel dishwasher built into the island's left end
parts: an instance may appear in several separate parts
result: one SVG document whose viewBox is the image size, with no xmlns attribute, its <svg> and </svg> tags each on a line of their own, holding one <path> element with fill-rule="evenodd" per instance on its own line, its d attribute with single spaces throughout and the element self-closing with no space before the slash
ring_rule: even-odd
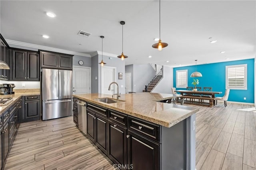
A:
<svg viewBox="0 0 256 170">
<path fill-rule="evenodd" d="M 78 128 L 87 134 L 87 117 L 86 117 L 86 102 L 78 100 L 77 102 L 77 112 L 78 112 Z"/>
</svg>

